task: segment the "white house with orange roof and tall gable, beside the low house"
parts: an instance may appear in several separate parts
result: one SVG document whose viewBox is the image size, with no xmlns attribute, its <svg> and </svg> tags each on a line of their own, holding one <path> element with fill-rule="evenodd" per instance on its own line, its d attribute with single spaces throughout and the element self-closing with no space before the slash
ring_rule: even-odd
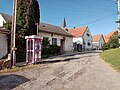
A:
<svg viewBox="0 0 120 90">
<path fill-rule="evenodd" d="M 68 30 L 73 37 L 74 50 L 92 50 L 92 36 L 88 26 Z"/>
</svg>

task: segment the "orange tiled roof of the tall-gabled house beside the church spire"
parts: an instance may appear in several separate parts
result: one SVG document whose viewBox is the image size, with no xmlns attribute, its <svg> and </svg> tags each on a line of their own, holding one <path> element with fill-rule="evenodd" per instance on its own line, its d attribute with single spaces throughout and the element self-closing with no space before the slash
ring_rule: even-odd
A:
<svg viewBox="0 0 120 90">
<path fill-rule="evenodd" d="M 73 28 L 73 29 L 69 29 L 68 32 L 71 33 L 75 37 L 83 37 L 87 28 L 88 26 L 83 26 L 80 28 Z"/>
</svg>

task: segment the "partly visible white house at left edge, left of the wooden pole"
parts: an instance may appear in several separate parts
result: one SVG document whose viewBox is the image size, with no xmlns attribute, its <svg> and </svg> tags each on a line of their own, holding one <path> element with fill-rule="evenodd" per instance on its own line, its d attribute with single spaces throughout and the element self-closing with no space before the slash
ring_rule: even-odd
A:
<svg viewBox="0 0 120 90">
<path fill-rule="evenodd" d="M 2 28 L 6 22 L 11 22 L 12 16 L 4 13 L 0 13 L 0 58 L 8 54 L 7 34 L 9 30 Z"/>
</svg>

